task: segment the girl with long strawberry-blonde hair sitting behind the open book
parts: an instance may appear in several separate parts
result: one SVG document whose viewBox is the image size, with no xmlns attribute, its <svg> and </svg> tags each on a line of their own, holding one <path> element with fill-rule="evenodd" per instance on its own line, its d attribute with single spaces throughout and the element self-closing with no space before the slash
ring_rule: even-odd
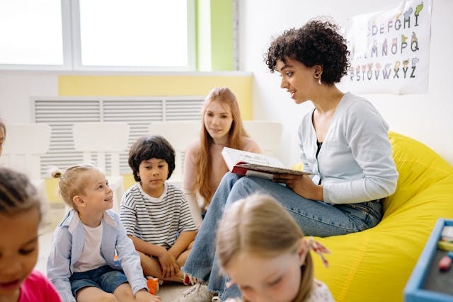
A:
<svg viewBox="0 0 453 302">
<path fill-rule="evenodd" d="M 224 146 L 261 153 L 260 146 L 243 128 L 236 95 L 226 87 L 212 89 L 202 108 L 200 139 L 188 146 L 184 159 L 183 190 L 190 204 L 204 212 L 228 168 L 221 152 Z M 197 195 L 200 202 L 197 202 Z M 197 209 L 195 223 L 201 223 Z"/>
</svg>

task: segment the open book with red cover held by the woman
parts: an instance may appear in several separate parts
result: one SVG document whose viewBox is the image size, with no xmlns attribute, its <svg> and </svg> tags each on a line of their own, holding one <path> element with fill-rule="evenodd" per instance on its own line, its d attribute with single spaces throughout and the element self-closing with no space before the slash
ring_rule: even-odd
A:
<svg viewBox="0 0 453 302">
<path fill-rule="evenodd" d="M 222 156 L 232 173 L 257 176 L 272 180 L 275 174 L 306 175 L 310 173 L 285 168 L 285 165 L 273 156 L 258 154 L 224 147 Z"/>
</svg>

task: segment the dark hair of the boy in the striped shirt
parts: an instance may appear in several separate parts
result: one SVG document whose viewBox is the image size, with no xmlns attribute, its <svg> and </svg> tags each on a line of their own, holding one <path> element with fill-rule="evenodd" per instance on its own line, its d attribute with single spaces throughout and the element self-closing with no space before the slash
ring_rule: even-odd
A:
<svg viewBox="0 0 453 302">
<path fill-rule="evenodd" d="M 134 180 L 139 182 L 139 165 L 142 161 L 148 161 L 151 158 L 163 159 L 168 164 L 168 178 L 175 170 L 175 149 L 173 146 L 160 135 L 151 135 L 140 137 L 130 147 L 129 166 L 134 173 Z"/>
</svg>

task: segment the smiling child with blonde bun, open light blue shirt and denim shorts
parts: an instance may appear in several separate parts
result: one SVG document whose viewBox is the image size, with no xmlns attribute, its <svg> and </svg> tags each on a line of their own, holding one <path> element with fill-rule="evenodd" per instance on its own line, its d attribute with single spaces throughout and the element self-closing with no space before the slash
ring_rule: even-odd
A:
<svg viewBox="0 0 453 302">
<path fill-rule="evenodd" d="M 47 277 L 63 301 L 161 301 L 149 294 L 139 255 L 110 210 L 113 192 L 104 173 L 74 165 L 52 176 L 72 208 L 55 229 L 47 261 Z"/>
</svg>

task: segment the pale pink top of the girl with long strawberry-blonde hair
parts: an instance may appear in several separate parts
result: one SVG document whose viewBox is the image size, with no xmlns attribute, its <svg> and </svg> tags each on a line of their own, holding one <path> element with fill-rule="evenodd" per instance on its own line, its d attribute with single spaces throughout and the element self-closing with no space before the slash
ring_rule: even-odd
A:
<svg viewBox="0 0 453 302">
<path fill-rule="evenodd" d="M 243 137 L 242 141 L 243 150 L 255 153 L 261 153 L 260 146 L 256 141 L 253 141 L 250 137 Z M 210 175 L 210 186 L 212 192 L 215 192 L 220 180 L 222 180 L 224 174 L 228 172 L 228 167 L 222 157 L 222 149 L 224 146 L 212 144 L 211 146 L 211 165 L 213 167 Z M 185 194 L 195 195 L 193 191 L 193 181 L 195 180 L 195 154 L 200 149 L 200 139 L 194 141 L 188 146 L 184 157 L 184 170 L 183 170 L 183 190 Z M 198 202 L 200 204 L 200 202 Z M 202 203 L 201 203 L 202 204 Z"/>
</svg>

